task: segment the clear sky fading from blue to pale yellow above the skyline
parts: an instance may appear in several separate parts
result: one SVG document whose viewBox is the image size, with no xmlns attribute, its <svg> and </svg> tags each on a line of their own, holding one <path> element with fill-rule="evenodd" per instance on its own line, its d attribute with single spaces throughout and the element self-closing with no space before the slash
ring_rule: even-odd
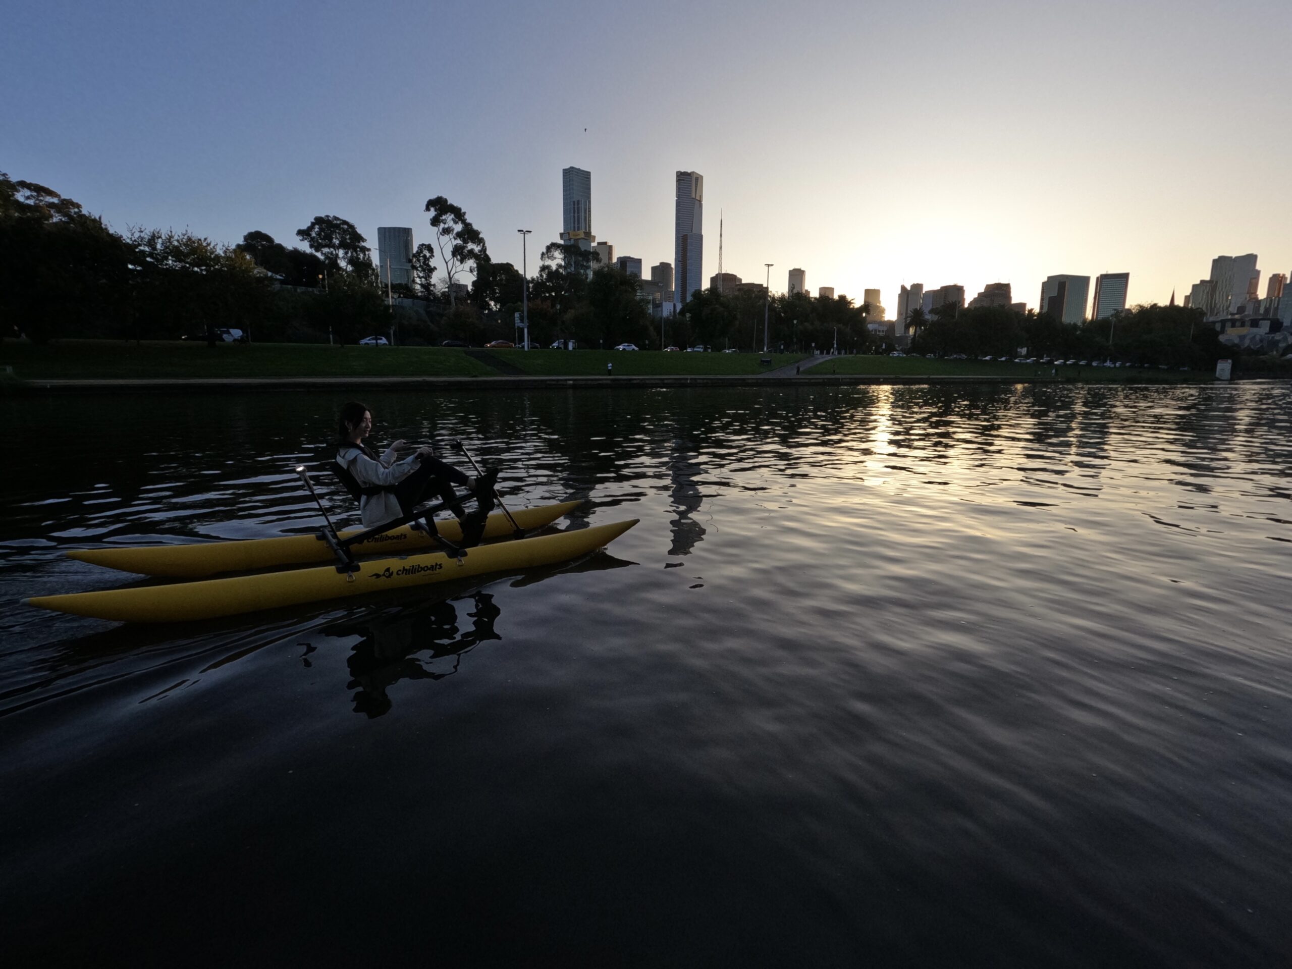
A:
<svg viewBox="0 0 1292 969">
<path fill-rule="evenodd" d="M 495 261 L 592 230 L 673 261 L 704 176 L 704 276 L 788 270 L 889 318 L 902 283 L 1130 273 L 1182 297 L 1212 257 L 1292 274 L 1292 3 L 6 4 L 0 171 L 114 227 L 412 226 L 446 195 Z"/>
</svg>

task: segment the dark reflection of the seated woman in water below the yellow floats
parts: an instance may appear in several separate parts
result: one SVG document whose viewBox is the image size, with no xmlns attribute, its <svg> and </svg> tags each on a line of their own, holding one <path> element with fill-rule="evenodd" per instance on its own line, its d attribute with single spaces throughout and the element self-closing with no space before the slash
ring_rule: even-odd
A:
<svg viewBox="0 0 1292 969">
<path fill-rule="evenodd" d="M 391 705 L 388 690 L 401 680 L 443 680 L 457 672 L 464 652 L 486 640 L 501 640 L 494 632 L 494 621 L 499 616 L 494 596 L 477 592 L 472 601 L 475 610 L 466 614 L 472 628 L 461 634 L 453 602 L 399 609 L 360 623 L 342 623 L 324 629 L 328 636 L 363 637 L 348 660 L 353 677 L 348 689 L 358 691 L 354 694 L 354 712 L 380 717 Z M 437 672 L 425 665 L 428 660 L 444 656 L 453 658 L 451 669 Z"/>
</svg>

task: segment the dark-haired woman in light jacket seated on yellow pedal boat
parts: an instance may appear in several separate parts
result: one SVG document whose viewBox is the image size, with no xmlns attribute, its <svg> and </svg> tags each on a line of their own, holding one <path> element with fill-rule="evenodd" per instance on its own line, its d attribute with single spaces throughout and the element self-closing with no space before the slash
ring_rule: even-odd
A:
<svg viewBox="0 0 1292 969">
<path fill-rule="evenodd" d="M 351 401 L 341 407 L 337 420 L 336 463 L 358 486 L 359 516 L 364 528 L 376 528 L 399 518 L 407 518 L 417 505 L 435 497 L 442 499 L 463 523 L 463 545 L 479 544 L 484 519 L 494 506 L 494 482 L 497 469 L 484 472 L 478 478 L 444 464 L 430 447 L 419 447 L 404 459 L 398 451 L 407 442 L 397 441 L 380 456 L 363 438 L 372 433 L 372 411 L 367 404 Z M 341 475 L 342 482 L 345 475 Z M 453 484 L 466 488 L 466 495 L 456 495 Z M 346 487 L 351 494 L 355 488 Z M 470 514 L 463 510 L 461 499 L 474 497 L 477 508 Z M 428 527 L 434 534 L 434 523 L 428 516 Z"/>
</svg>

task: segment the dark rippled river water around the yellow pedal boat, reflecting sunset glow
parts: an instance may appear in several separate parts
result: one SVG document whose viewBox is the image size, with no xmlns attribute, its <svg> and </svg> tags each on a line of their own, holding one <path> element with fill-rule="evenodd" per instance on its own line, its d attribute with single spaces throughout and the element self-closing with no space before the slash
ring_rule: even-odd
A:
<svg viewBox="0 0 1292 969">
<path fill-rule="evenodd" d="M 18 605 L 307 530 L 341 399 L 0 403 L 9 965 L 1288 964 L 1286 384 L 376 394 L 642 522 L 200 627 Z"/>
</svg>

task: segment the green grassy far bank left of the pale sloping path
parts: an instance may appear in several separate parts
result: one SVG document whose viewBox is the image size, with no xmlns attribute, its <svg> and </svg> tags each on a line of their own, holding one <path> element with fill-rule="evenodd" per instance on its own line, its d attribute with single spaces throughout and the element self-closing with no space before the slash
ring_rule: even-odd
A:
<svg viewBox="0 0 1292 969">
<path fill-rule="evenodd" d="M 532 376 L 702 376 L 770 370 L 753 353 L 663 353 L 659 350 L 465 350 L 438 346 L 328 346 L 320 344 L 217 344 L 118 340 L 62 340 L 36 346 L 0 344 L 0 364 L 18 380 L 183 380 L 213 377 L 495 377 Z M 506 366 L 490 366 L 496 359 Z M 802 359 L 773 355 L 773 367 Z M 513 370 L 514 368 L 514 370 Z"/>
</svg>

